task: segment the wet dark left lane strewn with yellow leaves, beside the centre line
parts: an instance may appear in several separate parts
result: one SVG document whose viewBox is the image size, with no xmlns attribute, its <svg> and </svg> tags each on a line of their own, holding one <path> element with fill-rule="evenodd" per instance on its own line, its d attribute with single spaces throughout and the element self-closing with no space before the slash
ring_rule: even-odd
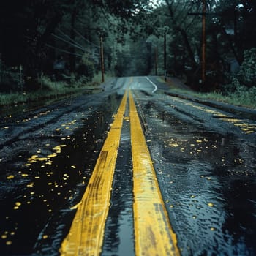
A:
<svg viewBox="0 0 256 256">
<path fill-rule="evenodd" d="M 1 116 L 0 255 L 59 255 L 121 101 L 114 91 Z"/>
</svg>

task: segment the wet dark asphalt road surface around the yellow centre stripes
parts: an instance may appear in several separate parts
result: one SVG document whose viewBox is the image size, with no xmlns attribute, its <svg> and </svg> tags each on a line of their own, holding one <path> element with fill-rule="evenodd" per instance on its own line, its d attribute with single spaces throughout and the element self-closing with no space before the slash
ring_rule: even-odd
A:
<svg viewBox="0 0 256 256">
<path fill-rule="evenodd" d="M 70 208 L 86 189 L 129 80 L 1 112 L 0 255 L 59 255 Z M 181 255 L 256 255 L 256 121 L 172 97 L 150 80 L 133 78 L 129 88 Z M 102 255 L 134 255 L 129 136 L 126 121 Z"/>
</svg>

